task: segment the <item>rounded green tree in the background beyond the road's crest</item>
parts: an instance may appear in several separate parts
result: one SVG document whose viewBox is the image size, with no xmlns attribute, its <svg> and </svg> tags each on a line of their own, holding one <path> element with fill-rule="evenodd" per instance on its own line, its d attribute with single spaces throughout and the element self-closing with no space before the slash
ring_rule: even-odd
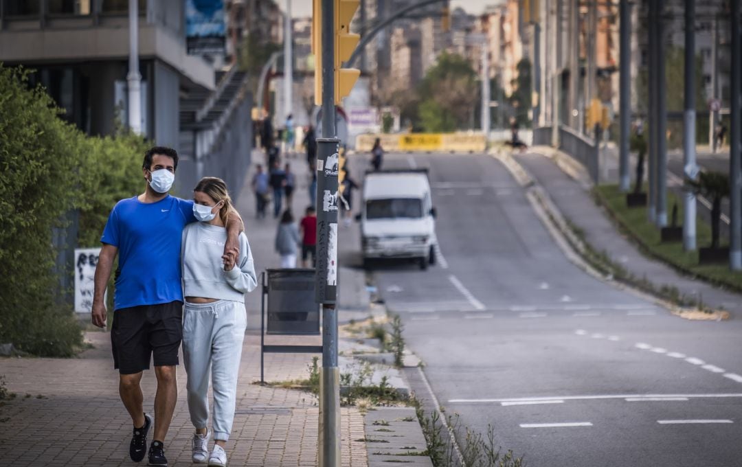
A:
<svg viewBox="0 0 742 467">
<path fill-rule="evenodd" d="M 457 130 L 467 122 L 477 99 L 476 72 L 464 57 L 442 53 L 422 79 L 418 95 L 418 118 L 425 131 Z"/>
</svg>

